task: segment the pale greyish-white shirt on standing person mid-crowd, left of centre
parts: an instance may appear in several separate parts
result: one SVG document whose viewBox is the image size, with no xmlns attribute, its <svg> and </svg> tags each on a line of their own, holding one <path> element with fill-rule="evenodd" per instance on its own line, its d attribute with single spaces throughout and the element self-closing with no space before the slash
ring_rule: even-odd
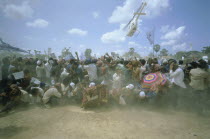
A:
<svg viewBox="0 0 210 139">
<path fill-rule="evenodd" d="M 95 64 L 85 65 L 84 69 L 87 70 L 90 81 L 94 81 L 98 79 L 97 67 Z"/>
</svg>

